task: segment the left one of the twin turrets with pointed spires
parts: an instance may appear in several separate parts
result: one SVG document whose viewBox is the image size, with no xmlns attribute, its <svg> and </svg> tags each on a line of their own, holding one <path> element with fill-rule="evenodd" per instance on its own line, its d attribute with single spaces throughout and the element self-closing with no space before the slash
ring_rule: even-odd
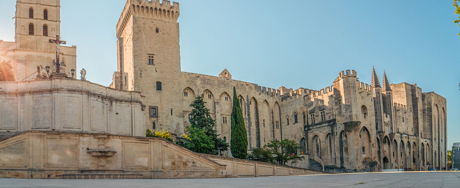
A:
<svg viewBox="0 0 460 188">
<path fill-rule="evenodd" d="M 375 129 L 377 132 L 383 131 L 383 106 L 382 106 L 382 88 L 380 87 L 379 78 L 372 66 L 372 94 L 374 97 L 374 112 L 375 112 Z"/>
</svg>

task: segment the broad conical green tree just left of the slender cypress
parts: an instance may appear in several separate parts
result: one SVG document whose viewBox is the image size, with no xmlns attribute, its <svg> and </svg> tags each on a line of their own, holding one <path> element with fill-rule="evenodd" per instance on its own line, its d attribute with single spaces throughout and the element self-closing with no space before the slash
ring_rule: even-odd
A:
<svg viewBox="0 0 460 188">
<path fill-rule="evenodd" d="M 219 138 L 219 134 L 217 134 L 216 127 L 216 120 L 211 117 L 209 113 L 209 109 L 206 108 L 205 103 L 202 97 L 196 97 L 195 101 L 190 104 L 190 107 L 193 107 L 192 112 L 190 112 L 190 127 L 186 127 L 187 130 L 187 137 L 189 137 L 189 143 L 186 144 L 187 146 L 194 146 L 190 149 L 194 152 L 204 153 L 204 154 L 220 154 L 222 152 L 226 152 L 228 150 L 229 144 Z M 198 130 L 197 130 L 198 129 Z M 199 131 L 202 130 L 202 132 Z M 207 142 L 208 138 L 212 142 Z M 201 141 L 200 141 L 201 139 Z M 191 142 L 191 143 L 190 143 Z M 197 143 L 197 142 L 203 142 Z M 207 146 L 212 143 L 213 149 L 207 150 Z M 190 145 L 191 144 L 191 145 Z M 203 147 L 201 147 L 203 145 Z M 200 147 L 198 147 L 200 146 Z M 200 148 L 198 151 L 196 148 Z"/>
</svg>

